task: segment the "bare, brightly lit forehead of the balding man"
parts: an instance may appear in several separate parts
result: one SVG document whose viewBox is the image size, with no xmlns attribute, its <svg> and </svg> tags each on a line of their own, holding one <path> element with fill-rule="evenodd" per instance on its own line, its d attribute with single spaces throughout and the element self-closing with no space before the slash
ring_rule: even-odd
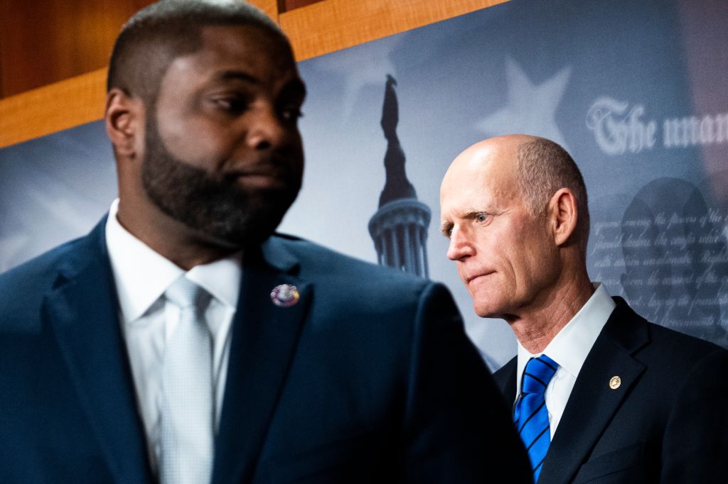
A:
<svg viewBox="0 0 728 484">
<path fill-rule="evenodd" d="M 515 152 L 485 145 L 461 153 L 440 187 L 443 218 L 471 211 L 505 209 L 520 201 Z"/>
</svg>

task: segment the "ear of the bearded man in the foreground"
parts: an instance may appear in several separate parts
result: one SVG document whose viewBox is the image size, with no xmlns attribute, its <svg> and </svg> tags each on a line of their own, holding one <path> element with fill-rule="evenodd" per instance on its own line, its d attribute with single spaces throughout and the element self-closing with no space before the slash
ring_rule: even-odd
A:
<svg viewBox="0 0 728 484">
<path fill-rule="evenodd" d="M 114 152 L 126 157 L 138 154 L 139 142 L 143 140 L 143 102 L 114 87 L 106 95 L 104 117 L 106 134 L 114 143 Z"/>
</svg>

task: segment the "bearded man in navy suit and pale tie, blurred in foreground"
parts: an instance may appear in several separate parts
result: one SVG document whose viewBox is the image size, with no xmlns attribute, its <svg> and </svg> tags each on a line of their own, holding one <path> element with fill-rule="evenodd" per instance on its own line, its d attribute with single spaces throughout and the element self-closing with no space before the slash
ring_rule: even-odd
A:
<svg viewBox="0 0 728 484">
<path fill-rule="evenodd" d="M 529 482 L 443 286 L 272 235 L 304 94 L 247 4 L 124 26 L 119 199 L 0 276 L 0 481 Z"/>
</svg>

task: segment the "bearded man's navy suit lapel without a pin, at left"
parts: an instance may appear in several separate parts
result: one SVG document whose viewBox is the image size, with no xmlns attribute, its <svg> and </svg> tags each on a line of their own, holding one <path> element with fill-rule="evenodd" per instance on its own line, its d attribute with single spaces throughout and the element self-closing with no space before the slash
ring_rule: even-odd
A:
<svg viewBox="0 0 728 484">
<path fill-rule="evenodd" d="M 104 226 L 105 219 L 60 265 L 44 316 L 116 481 L 151 482 Z"/>
</svg>

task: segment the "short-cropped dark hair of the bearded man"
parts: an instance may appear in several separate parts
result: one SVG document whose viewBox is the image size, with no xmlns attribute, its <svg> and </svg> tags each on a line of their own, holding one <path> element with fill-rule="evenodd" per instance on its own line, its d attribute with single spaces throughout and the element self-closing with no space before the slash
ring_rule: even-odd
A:
<svg viewBox="0 0 728 484">
<path fill-rule="evenodd" d="M 290 50 L 280 27 L 245 1 L 162 0 L 141 9 L 124 24 L 111 52 L 107 92 L 116 87 L 154 105 L 170 63 L 202 47 L 203 27 L 226 25 L 260 28 Z"/>
</svg>

